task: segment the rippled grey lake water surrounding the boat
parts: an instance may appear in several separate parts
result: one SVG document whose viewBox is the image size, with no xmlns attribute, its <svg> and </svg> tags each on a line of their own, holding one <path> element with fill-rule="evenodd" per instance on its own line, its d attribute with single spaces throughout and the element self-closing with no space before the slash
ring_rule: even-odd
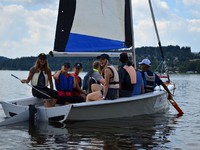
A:
<svg viewBox="0 0 200 150">
<path fill-rule="evenodd" d="M 31 96 L 31 88 L 11 74 L 26 78 L 27 71 L 0 71 L 0 100 Z M 172 106 L 165 114 L 67 124 L 21 123 L 0 127 L 0 149 L 183 149 L 200 146 L 200 75 L 171 75 L 174 99 L 184 111 L 177 117 Z M 4 119 L 0 107 L 0 120 Z"/>
</svg>

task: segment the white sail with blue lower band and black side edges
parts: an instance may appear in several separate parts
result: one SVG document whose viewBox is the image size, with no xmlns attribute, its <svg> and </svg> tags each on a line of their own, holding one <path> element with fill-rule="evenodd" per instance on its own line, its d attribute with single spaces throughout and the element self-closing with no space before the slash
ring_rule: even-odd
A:
<svg viewBox="0 0 200 150">
<path fill-rule="evenodd" d="M 54 51 L 103 52 L 132 46 L 129 0 L 60 0 Z"/>
</svg>

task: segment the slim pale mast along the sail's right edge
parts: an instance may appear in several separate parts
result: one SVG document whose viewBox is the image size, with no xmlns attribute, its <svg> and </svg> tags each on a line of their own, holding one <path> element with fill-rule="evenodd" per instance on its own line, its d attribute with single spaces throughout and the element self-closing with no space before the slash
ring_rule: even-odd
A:
<svg viewBox="0 0 200 150">
<path fill-rule="evenodd" d="M 135 56 L 135 43 L 134 43 L 134 27 L 133 27 L 133 6 L 132 0 L 129 0 L 130 3 L 130 22 L 131 22 L 131 32 L 132 32 L 132 62 L 134 63 L 136 69 L 136 56 Z"/>
</svg>

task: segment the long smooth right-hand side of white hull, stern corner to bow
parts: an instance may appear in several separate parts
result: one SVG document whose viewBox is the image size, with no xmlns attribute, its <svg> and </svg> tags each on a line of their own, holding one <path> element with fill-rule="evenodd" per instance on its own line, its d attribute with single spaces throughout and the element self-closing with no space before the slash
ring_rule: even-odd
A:
<svg viewBox="0 0 200 150">
<path fill-rule="evenodd" d="M 90 103 L 90 104 L 89 104 Z M 166 94 L 144 94 L 114 101 L 74 104 L 68 120 L 96 120 L 132 117 L 168 110 Z"/>
</svg>

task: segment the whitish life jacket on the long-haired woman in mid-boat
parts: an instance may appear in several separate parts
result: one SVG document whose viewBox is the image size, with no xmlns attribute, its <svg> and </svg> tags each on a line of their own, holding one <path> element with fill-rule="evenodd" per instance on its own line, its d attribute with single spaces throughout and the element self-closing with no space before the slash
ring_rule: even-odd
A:
<svg viewBox="0 0 200 150">
<path fill-rule="evenodd" d="M 118 89 L 119 88 L 119 74 L 114 66 L 107 66 L 113 73 L 113 77 L 111 77 L 113 80 L 109 82 L 108 88 Z"/>
</svg>

